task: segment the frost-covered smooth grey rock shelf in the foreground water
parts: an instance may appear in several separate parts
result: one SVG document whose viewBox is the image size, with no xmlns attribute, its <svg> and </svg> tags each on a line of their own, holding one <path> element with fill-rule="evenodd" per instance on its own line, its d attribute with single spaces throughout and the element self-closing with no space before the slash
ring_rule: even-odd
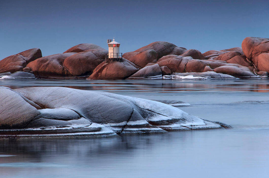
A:
<svg viewBox="0 0 269 178">
<path fill-rule="evenodd" d="M 229 127 L 171 106 L 189 105 L 180 101 L 65 87 L 0 87 L 0 93 L 1 138 L 100 137 Z"/>
</svg>

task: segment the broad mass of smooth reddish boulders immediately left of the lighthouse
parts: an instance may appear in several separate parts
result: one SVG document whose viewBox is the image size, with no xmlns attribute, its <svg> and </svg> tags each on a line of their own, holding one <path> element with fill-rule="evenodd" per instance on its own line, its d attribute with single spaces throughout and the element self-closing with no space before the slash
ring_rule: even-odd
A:
<svg viewBox="0 0 269 178">
<path fill-rule="evenodd" d="M 62 54 L 39 58 L 27 65 L 39 78 L 88 77 L 105 59 L 107 50 L 94 44 L 80 44 Z"/>
</svg>

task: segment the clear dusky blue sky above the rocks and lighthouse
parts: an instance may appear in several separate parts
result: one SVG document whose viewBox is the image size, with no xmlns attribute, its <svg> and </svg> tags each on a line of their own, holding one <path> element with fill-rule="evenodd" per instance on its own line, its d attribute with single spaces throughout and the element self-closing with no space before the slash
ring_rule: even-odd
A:
<svg viewBox="0 0 269 178">
<path fill-rule="evenodd" d="M 38 47 L 43 56 L 80 43 L 120 52 L 155 41 L 222 50 L 247 36 L 269 38 L 269 1 L 0 1 L 0 59 Z"/>
</svg>

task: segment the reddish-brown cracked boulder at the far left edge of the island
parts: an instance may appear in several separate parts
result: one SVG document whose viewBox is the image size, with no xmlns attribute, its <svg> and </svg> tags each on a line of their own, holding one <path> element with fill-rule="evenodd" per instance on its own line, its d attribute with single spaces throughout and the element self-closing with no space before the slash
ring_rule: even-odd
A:
<svg viewBox="0 0 269 178">
<path fill-rule="evenodd" d="M 40 57 L 42 57 L 42 54 L 41 50 L 38 48 L 8 56 L 0 60 L 0 73 L 22 71 L 28 63 Z"/>
</svg>

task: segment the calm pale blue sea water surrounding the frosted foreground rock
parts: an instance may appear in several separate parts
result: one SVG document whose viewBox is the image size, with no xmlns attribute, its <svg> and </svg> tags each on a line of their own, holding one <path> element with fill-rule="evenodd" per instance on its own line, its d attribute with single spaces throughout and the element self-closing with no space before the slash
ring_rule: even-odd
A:
<svg viewBox="0 0 269 178">
<path fill-rule="evenodd" d="M 269 80 L 0 80 L 180 100 L 233 129 L 0 141 L 0 177 L 268 177 Z M 243 102 L 242 102 L 243 101 Z M 246 102 L 248 101 L 248 102 Z"/>
</svg>

